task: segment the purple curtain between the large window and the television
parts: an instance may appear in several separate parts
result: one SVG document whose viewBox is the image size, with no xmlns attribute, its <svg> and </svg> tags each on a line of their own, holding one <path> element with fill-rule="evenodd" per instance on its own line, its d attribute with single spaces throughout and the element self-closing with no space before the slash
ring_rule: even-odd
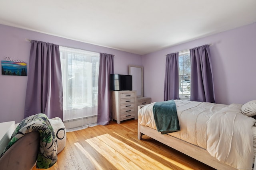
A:
<svg viewBox="0 0 256 170">
<path fill-rule="evenodd" d="M 110 112 L 110 74 L 114 73 L 114 55 L 100 53 L 98 81 L 98 125 L 108 125 Z"/>
</svg>

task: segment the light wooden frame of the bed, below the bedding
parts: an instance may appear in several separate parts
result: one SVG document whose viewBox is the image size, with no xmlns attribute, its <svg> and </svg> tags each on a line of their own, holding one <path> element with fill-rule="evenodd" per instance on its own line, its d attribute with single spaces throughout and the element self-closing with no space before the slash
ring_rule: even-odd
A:
<svg viewBox="0 0 256 170">
<path fill-rule="evenodd" d="M 138 110 L 142 108 L 143 106 L 138 106 Z M 140 125 L 138 121 L 138 139 L 142 139 L 142 135 L 147 135 L 148 137 L 151 137 L 155 139 L 156 141 L 159 141 L 175 150 L 178 150 L 200 162 L 203 162 L 204 164 L 207 164 L 208 166 L 211 166 L 212 168 L 218 169 L 218 170 L 236 170 L 236 168 L 225 164 L 223 162 L 220 162 L 216 158 L 210 155 L 210 153 L 201 147 L 198 147 L 196 145 L 190 144 L 186 141 L 183 141 L 181 139 L 178 139 L 176 137 L 173 137 L 171 135 L 164 134 L 162 135 L 160 132 L 158 132 L 155 129 L 152 129 L 150 127 Z"/>
</svg>

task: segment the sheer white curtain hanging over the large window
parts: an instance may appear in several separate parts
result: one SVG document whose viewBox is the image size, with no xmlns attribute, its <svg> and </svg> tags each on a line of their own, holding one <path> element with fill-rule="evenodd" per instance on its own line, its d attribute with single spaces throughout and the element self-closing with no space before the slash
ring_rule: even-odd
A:
<svg viewBox="0 0 256 170">
<path fill-rule="evenodd" d="M 60 46 L 66 131 L 95 126 L 100 53 Z"/>
</svg>

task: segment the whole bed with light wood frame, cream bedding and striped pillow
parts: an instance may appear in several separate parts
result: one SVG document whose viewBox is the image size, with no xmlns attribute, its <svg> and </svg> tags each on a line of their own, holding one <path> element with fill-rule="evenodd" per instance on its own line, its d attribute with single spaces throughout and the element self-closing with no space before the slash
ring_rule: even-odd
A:
<svg viewBox="0 0 256 170">
<path fill-rule="evenodd" d="M 256 101 L 213 104 L 174 100 L 180 131 L 156 129 L 154 103 L 138 106 L 138 139 L 147 135 L 216 169 L 251 170 L 256 154 Z"/>
</svg>

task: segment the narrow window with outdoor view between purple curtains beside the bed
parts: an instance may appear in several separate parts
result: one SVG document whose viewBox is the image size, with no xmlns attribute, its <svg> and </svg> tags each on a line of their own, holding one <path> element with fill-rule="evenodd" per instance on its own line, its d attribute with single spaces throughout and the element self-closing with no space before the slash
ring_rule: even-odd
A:
<svg viewBox="0 0 256 170">
<path fill-rule="evenodd" d="M 179 94 L 180 98 L 190 98 L 190 51 L 179 52 Z"/>
</svg>

